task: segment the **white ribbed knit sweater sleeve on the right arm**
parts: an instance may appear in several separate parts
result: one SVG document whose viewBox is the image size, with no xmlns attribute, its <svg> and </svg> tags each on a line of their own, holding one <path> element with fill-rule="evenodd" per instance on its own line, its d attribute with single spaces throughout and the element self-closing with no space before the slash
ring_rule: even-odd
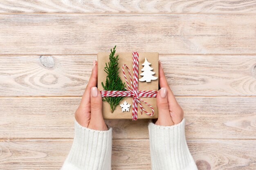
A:
<svg viewBox="0 0 256 170">
<path fill-rule="evenodd" d="M 173 126 L 150 123 L 152 170 L 198 170 L 185 137 L 185 119 Z"/>
</svg>

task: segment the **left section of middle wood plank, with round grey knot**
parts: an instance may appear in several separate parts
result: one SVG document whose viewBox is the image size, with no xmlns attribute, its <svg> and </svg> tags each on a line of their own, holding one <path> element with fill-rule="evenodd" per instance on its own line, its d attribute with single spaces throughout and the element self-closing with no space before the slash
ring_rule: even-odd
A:
<svg viewBox="0 0 256 170">
<path fill-rule="evenodd" d="M 81 96 L 97 56 L 0 56 L 0 96 Z"/>
</svg>

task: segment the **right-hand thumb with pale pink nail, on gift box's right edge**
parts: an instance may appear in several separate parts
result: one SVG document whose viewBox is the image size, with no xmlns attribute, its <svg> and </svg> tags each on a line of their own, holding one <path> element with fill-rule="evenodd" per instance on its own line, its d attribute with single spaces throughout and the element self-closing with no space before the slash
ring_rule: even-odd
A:
<svg viewBox="0 0 256 170">
<path fill-rule="evenodd" d="M 161 126 L 171 126 L 173 121 L 171 119 L 167 88 L 161 88 L 157 93 L 157 109 L 158 109 L 158 119 L 157 124 Z"/>
</svg>

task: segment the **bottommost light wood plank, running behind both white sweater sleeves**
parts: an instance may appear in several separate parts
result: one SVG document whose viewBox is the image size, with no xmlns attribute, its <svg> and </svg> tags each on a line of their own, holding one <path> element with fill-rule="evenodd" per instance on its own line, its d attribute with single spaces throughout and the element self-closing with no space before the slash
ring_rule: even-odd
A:
<svg viewBox="0 0 256 170">
<path fill-rule="evenodd" d="M 56 170 L 61 168 L 72 140 L 1 141 L 1 169 Z M 255 140 L 188 140 L 198 170 L 254 170 Z M 112 170 L 150 170 L 147 139 L 114 139 Z"/>
</svg>

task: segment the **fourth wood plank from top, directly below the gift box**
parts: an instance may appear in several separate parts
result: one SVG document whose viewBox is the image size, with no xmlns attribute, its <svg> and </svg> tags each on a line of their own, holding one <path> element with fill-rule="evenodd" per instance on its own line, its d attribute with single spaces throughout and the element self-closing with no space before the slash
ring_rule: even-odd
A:
<svg viewBox="0 0 256 170">
<path fill-rule="evenodd" d="M 256 139 L 256 97 L 177 97 L 187 139 Z M 0 139 L 73 138 L 77 97 L 0 98 Z M 147 139 L 148 120 L 107 120 L 115 139 Z M 136 132 L 136 133 L 135 133 Z"/>
</svg>

